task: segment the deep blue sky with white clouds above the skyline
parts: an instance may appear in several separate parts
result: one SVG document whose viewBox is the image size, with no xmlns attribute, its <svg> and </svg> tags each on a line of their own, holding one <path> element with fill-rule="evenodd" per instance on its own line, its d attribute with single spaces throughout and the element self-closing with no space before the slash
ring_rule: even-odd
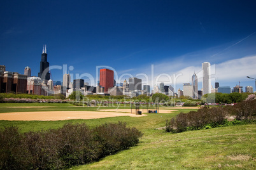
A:
<svg viewBox="0 0 256 170">
<path fill-rule="evenodd" d="M 96 68 L 108 66 L 120 81 L 128 75 L 144 80 L 146 74 L 153 86 L 162 74 L 159 81 L 182 89 L 194 72 L 200 74 L 202 62 L 210 62 L 215 67 L 212 81 L 231 87 L 240 81 L 255 91 L 255 82 L 246 79 L 256 78 L 255 5 L 255 1 L 1 1 L 0 65 L 21 74 L 29 66 L 37 76 L 47 44 L 50 66 L 72 66 L 74 77 L 96 79 Z M 53 81 L 62 81 L 62 73 L 52 69 Z"/>
</svg>

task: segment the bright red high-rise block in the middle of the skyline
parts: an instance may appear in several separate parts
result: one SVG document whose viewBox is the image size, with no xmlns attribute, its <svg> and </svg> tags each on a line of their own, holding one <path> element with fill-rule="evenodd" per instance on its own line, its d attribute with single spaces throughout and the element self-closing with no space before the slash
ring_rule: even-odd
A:
<svg viewBox="0 0 256 170">
<path fill-rule="evenodd" d="M 99 70 L 99 86 L 105 88 L 105 93 L 108 93 L 108 88 L 114 86 L 114 71 L 109 69 Z"/>
</svg>

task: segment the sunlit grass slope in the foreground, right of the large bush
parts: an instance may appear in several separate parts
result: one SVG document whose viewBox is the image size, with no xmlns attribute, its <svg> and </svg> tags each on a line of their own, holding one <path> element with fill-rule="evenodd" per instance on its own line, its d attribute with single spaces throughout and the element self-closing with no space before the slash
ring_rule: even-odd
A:
<svg viewBox="0 0 256 170">
<path fill-rule="evenodd" d="M 255 169 L 256 126 L 171 134 L 153 130 L 130 150 L 73 169 Z"/>
</svg>

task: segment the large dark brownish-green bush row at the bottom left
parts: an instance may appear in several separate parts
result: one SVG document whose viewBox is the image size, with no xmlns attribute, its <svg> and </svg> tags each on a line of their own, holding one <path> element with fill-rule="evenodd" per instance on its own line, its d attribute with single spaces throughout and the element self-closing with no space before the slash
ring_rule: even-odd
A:
<svg viewBox="0 0 256 170">
<path fill-rule="evenodd" d="M 20 133 L 17 127 L 0 131 L 0 169 L 63 169 L 101 159 L 136 145 L 142 134 L 125 123 L 90 129 L 65 124 L 59 129 Z"/>
</svg>

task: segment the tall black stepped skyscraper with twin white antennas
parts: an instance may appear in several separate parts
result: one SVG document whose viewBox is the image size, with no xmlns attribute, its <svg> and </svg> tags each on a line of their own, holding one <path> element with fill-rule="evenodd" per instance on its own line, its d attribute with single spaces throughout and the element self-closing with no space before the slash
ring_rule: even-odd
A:
<svg viewBox="0 0 256 170">
<path fill-rule="evenodd" d="M 40 77 L 42 79 L 42 81 L 50 80 L 49 63 L 47 62 L 46 45 L 43 46 L 43 52 L 41 55 L 41 62 L 40 62 L 40 71 L 38 73 L 38 77 Z"/>
</svg>

